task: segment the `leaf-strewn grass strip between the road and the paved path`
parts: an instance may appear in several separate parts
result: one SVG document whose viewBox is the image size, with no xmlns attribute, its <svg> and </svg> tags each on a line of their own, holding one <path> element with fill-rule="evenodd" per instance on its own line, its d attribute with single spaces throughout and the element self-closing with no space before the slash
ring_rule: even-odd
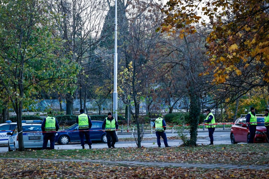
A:
<svg viewBox="0 0 269 179">
<path fill-rule="evenodd" d="M 171 148 L 115 148 L 28 150 L 4 152 L 4 158 L 89 159 L 108 161 L 161 161 L 176 163 L 269 164 L 269 144 L 202 145 Z"/>
</svg>

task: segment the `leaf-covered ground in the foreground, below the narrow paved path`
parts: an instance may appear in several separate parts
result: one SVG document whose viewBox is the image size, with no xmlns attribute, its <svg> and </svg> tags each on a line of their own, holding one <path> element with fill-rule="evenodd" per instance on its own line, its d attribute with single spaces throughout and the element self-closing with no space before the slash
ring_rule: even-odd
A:
<svg viewBox="0 0 269 179">
<path fill-rule="evenodd" d="M 268 170 L 130 167 L 90 162 L 0 159 L 1 178 L 268 178 Z"/>
</svg>

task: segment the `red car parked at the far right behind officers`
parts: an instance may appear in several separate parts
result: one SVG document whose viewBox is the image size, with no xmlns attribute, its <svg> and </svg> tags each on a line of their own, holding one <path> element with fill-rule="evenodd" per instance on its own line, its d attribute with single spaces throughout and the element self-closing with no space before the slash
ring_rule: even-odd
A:
<svg viewBox="0 0 269 179">
<path fill-rule="evenodd" d="M 235 123 L 245 123 L 246 118 L 238 118 Z M 264 122 L 264 117 L 257 116 L 257 122 Z M 247 124 L 233 124 L 231 127 L 231 143 L 235 144 L 238 142 L 248 143 L 250 137 L 249 129 Z M 254 143 L 265 143 L 266 142 L 266 127 L 264 123 L 258 123 L 256 127 L 256 135 Z"/>
</svg>

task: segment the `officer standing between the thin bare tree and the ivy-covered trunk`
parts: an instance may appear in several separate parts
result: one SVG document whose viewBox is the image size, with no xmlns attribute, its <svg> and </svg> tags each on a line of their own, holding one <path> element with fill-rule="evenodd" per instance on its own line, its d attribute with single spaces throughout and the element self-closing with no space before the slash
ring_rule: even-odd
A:
<svg viewBox="0 0 269 179">
<path fill-rule="evenodd" d="M 167 137 L 166 137 L 166 134 L 164 132 L 166 130 L 165 126 L 166 126 L 165 120 L 162 118 L 162 114 L 160 113 L 159 118 L 155 119 L 155 122 L 153 124 L 153 127 L 155 127 L 155 134 L 157 137 L 158 147 L 161 147 L 161 137 L 163 139 L 163 143 L 164 143 L 165 147 L 170 147 L 170 146 L 168 146 Z"/>
</svg>

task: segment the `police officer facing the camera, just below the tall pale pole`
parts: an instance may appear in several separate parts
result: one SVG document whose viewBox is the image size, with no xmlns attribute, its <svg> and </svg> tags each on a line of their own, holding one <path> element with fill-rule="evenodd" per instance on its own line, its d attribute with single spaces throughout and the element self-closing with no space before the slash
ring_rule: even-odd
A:
<svg viewBox="0 0 269 179">
<path fill-rule="evenodd" d="M 115 143 L 117 140 L 117 135 L 115 131 L 118 130 L 118 122 L 115 120 L 115 118 L 112 117 L 111 112 L 107 113 L 107 118 L 105 118 L 102 124 L 102 129 L 103 132 L 106 131 L 108 148 L 115 148 Z M 110 141 L 111 138 L 112 141 Z"/>
</svg>

